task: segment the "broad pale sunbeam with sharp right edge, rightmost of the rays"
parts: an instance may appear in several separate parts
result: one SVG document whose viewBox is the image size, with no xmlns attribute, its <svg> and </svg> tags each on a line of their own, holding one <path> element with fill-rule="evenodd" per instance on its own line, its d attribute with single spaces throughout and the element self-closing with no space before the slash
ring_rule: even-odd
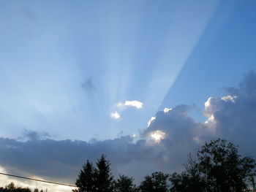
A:
<svg viewBox="0 0 256 192">
<path fill-rule="evenodd" d="M 159 53 L 157 67 L 148 83 L 146 94 L 148 96 L 146 103 L 151 104 L 155 110 L 158 110 L 159 105 L 162 104 L 192 54 L 219 1 L 197 3 L 197 9 L 191 9 L 193 3 L 188 1 L 177 1 L 173 4 L 165 44 Z"/>
</svg>

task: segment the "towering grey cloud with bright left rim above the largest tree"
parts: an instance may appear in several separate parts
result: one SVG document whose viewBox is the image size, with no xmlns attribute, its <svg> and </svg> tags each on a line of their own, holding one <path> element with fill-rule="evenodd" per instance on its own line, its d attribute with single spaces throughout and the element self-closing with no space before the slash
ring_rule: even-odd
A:
<svg viewBox="0 0 256 192">
<path fill-rule="evenodd" d="M 233 140 L 248 154 L 255 153 L 256 146 L 256 74 L 249 72 L 238 88 L 226 88 L 228 96 L 208 99 L 206 115 L 217 134 Z M 254 154 L 256 155 L 256 154 Z"/>
</svg>

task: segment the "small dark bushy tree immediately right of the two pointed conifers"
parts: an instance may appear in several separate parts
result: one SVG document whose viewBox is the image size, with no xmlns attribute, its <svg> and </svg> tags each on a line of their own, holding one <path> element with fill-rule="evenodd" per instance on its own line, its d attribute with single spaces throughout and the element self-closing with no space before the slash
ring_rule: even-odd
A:
<svg viewBox="0 0 256 192">
<path fill-rule="evenodd" d="M 119 175 L 119 178 L 114 183 L 115 192 L 135 192 L 134 179 L 125 175 Z"/>
</svg>

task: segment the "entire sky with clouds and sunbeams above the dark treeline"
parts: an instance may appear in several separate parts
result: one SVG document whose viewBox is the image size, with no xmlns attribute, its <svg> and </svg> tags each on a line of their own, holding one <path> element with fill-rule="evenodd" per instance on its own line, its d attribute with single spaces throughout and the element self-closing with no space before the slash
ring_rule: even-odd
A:
<svg viewBox="0 0 256 192">
<path fill-rule="evenodd" d="M 256 157 L 255 6 L 1 0 L 0 168 L 73 184 L 105 153 L 139 182 L 217 137 Z"/>
</svg>

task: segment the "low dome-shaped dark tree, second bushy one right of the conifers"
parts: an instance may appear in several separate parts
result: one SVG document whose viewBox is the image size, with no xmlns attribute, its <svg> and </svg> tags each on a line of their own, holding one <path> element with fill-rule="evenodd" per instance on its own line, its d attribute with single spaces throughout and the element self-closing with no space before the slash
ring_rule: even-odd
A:
<svg viewBox="0 0 256 192">
<path fill-rule="evenodd" d="M 151 176 L 146 176 L 145 180 L 140 183 L 141 192 L 165 192 L 168 191 L 167 183 L 169 175 L 162 172 L 154 172 Z"/>
</svg>

